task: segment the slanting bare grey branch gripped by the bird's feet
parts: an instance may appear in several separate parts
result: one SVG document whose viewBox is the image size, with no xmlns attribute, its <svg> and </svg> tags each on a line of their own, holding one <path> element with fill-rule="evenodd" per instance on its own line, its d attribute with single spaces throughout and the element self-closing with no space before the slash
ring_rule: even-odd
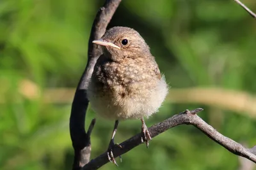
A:
<svg viewBox="0 0 256 170">
<path fill-rule="evenodd" d="M 216 143 L 219 143 L 221 146 L 226 148 L 228 151 L 241 157 L 245 157 L 246 159 L 252 160 L 256 163 L 256 155 L 253 154 L 256 150 L 256 146 L 254 146 L 252 149 L 247 149 L 236 141 L 233 141 L 232 139 L 223 136 L 222 134 L 220 134 L 220 132 L 216 131 L 216 129 L 211 127 L 211 125 L 208 125 L 206 122 L 204 122 L 204 120 L 202 120 L 202 118 L 196 115 L 196 113 L 198 113 L 199 111 L 202 111 L 202 109 L 198 108 L 192 111 L 186 110 L 182 113 L 179 113 L 171 118 L 164 120 L 163 122 L 160 122 L 159 124 L 153 125 L 152 127 L 148 128 L 150 136 L 154 138 L 157 135 L 163 133 L 164 131 L 167 131 L 168 129 L 177 125 L 193 125 L 200 131 L 204 132 L 204 134 L 206 134 L 213 141 L 216 141 Z M 123 155 L 124 153 L 129 152 L 129 150 L 132 150 L 132 148 L 135 148 L 140 144 L 141 134 L 136 134 L 132 138 L 127 139 L 126 141 L 121 143 L 120 145 L 122 146 L 122 148 L 115 146 L 113 154 L 115 155 L 115 157 L 118 157 L 119 155 Z M 102 155 L 99 155 L 99 157 L 91 160 L 88 164 L 86 164 L 83 167 L 83 170 L 98 169 L 99 167 L 107 164 L 108 162 L 108 156 L 105 152 L 102 153 Z"/>
</svg>

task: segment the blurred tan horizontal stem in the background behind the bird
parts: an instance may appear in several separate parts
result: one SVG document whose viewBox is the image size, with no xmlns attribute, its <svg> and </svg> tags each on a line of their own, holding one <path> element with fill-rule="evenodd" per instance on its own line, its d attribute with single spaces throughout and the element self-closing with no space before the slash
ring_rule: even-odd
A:
<svg viewBox="0 0 256 170">
<path fill-rule="evenodd" d="M 72 102 L 72 97 L 75 92 L 75 89 L 58 88 L 45 89 L 44 94 L 42 94 L 36 84 L 28 80 L 21 81 L 19 87 L 22 87 L 19 91 L 20 94 L 26 99 L 36 100 L 38 97 L 42 97 L 44 103 L 55 104 Z M 20 101 L 15 98 L 15 101 L 12 102 L 19 103 Z M 166 102 L 205 104 L 207 106 L 213 106 L 214 108 L 236 111 L 236 113 L 243 113 L 243 115 L 247 115 L 248 117 L 256 118 L 256 96 L 237 90 L 210 87 L 172 88 L 170 95 L 166 98 Z M 0 103 L 6 103 L 6 101 L 0 98 Z"/>
</svg>

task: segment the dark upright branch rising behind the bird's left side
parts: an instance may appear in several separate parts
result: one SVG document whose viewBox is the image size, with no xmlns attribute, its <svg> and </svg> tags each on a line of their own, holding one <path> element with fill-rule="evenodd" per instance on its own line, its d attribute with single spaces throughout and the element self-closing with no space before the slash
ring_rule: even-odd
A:
<svg viewBox="0 0 256 170">
<path fill-rule="evenodd" d="M 101 48 L 97 47 L 97 45 L 93 45 L 92 41 L 99 39 L 104 34 L 120 2 L 121 0 L 107 0 L 104 6 L 98 11 L 93 22 L 88 43 L 88 62 L 77 85 L 70 114 L 70 137 L 74 148 L 74 163 L 72 169 L 74 170 L 81 169 L 81 167 L 87 164 L 90 160 L 91 153 L 90 134 L 95 124 L 95 119 L 92 120 L 89 130 L 86 133 L 84 122 L 89 103 L 86 97 L 86 90 L 88 88 L 88 81 L 92 76 L 93 67 L 102 54 Z"/>
</svg>

